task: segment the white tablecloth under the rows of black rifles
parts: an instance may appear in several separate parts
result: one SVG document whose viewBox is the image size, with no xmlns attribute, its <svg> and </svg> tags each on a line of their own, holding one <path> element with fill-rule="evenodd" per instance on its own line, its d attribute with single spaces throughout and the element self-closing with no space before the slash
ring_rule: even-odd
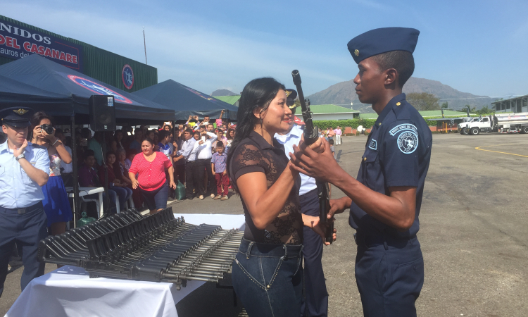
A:
<svg viewBox="0 0 528 317">
<path fill-rule="evenodd" d="M 175 214 L 187 223 L 244 228 L 244 215 Z M 172 283 L 89 278 L 84 268 L 63 266 L 35 278 L 20 294 L 7 317 L 20 316 L 178 316 L 176 304 L 204 282 Z"/>
</svg>

